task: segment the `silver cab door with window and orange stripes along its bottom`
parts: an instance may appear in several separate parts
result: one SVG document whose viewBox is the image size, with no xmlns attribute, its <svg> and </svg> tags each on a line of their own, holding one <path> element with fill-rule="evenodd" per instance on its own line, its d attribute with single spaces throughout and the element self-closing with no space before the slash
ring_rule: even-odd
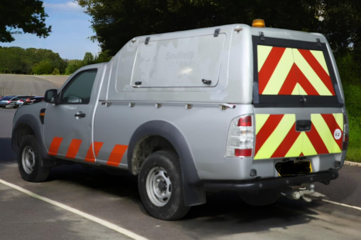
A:
<svg viewBox="0 0 361 240">
<path fill-rule="evenodd" d="M 44 141 L 49 155 L 95 161 L 91 123 L 96 102 L 93 85 L 99 72 L 98 68 L 91 68 L 74 74 L 58 92 L 58 104 L 48 103 L 44 117 Z"/>
</svg>

